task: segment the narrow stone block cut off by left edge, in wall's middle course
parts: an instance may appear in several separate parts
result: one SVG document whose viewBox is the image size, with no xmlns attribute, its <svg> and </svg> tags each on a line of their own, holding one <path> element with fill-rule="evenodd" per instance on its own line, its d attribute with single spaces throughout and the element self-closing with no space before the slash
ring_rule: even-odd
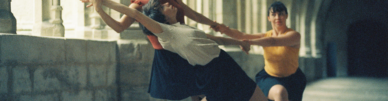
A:
<svg viewBox="0 0 388 101">
<path fill-rule="evenodd" d="M 8 72 L 7 67 L 0 66 L 0 94 L 8 93 Z"/>
</svg>

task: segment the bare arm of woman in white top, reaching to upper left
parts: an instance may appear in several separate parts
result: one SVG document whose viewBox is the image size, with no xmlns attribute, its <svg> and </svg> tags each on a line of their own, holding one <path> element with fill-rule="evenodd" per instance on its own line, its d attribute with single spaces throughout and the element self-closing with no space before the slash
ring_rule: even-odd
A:
<svg viewBox="0 0 388 101">
<path fill-rule="evenodd" d="M 100 13 L 104 13 L 104 10 L 101 8 L 101 4 L 104 3 L 106 7 L 116 10 L 122 14 L 125 14 L 129 17 L 132 17 L 142 23 L 152 33 L 162 33 L 163 30 L 158 22 L 152 20 L 146 15 L 142 14 L 136 9 L 127 7 L 121 3 L 116 3 L 111 0 L 90 0 L 95 7 L 95 10 Z"/>
</svg>

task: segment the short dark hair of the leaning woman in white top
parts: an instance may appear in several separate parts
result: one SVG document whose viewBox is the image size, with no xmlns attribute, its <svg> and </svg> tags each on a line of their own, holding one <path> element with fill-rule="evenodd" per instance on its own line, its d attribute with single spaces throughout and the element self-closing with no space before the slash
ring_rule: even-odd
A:
<svg viewBox="0 0 388 101">
<path fill-rule="evenodd" d="M 161 6 L 159 0 L 149 0 L 149 2 L 143 6 L 143 14 L 156 22 L 169 24 L 165 18 L 165 15 L 163 15 L 163 13 L 160 11 L 161 9 L 163 9 L 163 6 Z M 139 26 L 142 28 L 144 34 L 154 35 L 141 23 L 139 23 Z"/>
</svg>

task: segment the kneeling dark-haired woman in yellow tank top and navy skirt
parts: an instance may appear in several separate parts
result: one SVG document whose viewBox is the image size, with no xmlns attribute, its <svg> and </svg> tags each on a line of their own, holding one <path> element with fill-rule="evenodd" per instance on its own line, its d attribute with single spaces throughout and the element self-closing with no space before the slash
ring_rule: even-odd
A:
<svg viewBox="0 0 388 101">
<path fill-rule="evenodd" d="M 213 28 L 226 35 L 260 45 L 264 49 L 264 69 L 256 75 L 256 83 L 273 101 L 301 101 L 306 77 L 298 68 L 300 34 L 286 26 L 287 9 L 281 2 L 268 8 L 272 30 L 267 33 L 246 34 L 225 25 Z"/>
</svg>

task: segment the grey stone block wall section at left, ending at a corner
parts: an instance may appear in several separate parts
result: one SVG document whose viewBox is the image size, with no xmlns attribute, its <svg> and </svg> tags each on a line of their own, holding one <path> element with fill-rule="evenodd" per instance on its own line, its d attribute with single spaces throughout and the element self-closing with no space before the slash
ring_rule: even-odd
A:
<svg viewBox="0 0 388 101">
<path fill-rule="evenodd" d="M 116 41 L 0 34 L 1 101 L 116 101 Z"/>
</svg>

